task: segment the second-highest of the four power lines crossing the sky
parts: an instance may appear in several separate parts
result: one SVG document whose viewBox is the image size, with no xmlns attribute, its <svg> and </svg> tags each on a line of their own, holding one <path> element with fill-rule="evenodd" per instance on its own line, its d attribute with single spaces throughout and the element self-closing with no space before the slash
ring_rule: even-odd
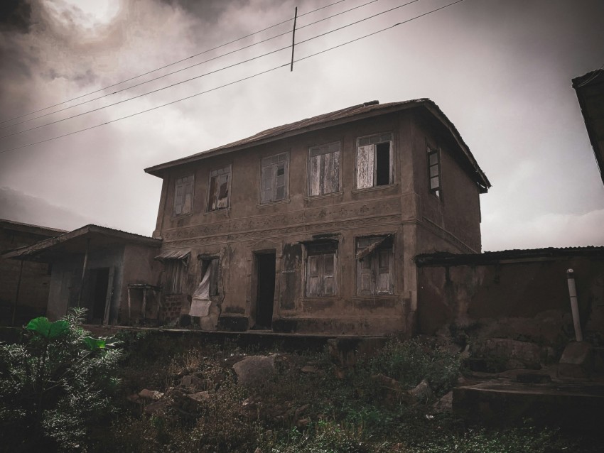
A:
<svg viewBox="0 0 604 453">
<path fill-rule="evenodd" d="M 344 1 L 344 0 L 343 0 L 343 1 Z M 297 29 L 298 29 L 298 30 L 301 30 L 302 28 L 306 28 L 306 27 L 313 26 L 313 25 L 315 25 L 316 23 L 323 22 L 323 21 L 327 21 L 328 19 L 330 19 L 330 18 L 334 18 L 335 16 L 341 16 L 341 15 L 342 15 L 342 14 L 344 14 L 344 13 L 348 13 L 348 12 L 353 11 L 353 10 L 355 10 L 355 9 L 362 8 L 363 6 L 367 6 L 367 5 L 369 5 L 369 4 L 375 3 L 376 1 L 379 1 L 379 0 L 371 0 L 371 1 L 367 1 L 367 2 L 366 2 L 366 3 L 364 3 L 364 4 L 361 4 L 361 5 L 355 6 L 355 7 L 353 7 L 353 8 L 347 9 L 347 10 L 345 10 L 345 11 L 341 11 L 340 13 L 335 13 L 335 14 L 332 14 L 331 16 L 327 16 L 327 17 L 325 17 L 325 18 L 319 19 L 318 21 L 314 21 L 314 22 L 311 22 L 311 23 L 307 23 L 305 26 L 298 27 Z M 315 11 L 318 11 L 318 10 L 315 10 Z M 308 14 L 308 13 L 307 13 L 307 14 Z M 301 16 L 303 16 L 303 14 L 302 14 Z M 279 24 L 279 25 L 280 25 L 280 24 Z M 265 28 L 264 30 L 266 30 L 266 29 L 267 29 L 267 28 Z M 262 43 L 266 43 L 267 41 L 273 40 L 273 39 L 275 39 L 275 38 L 280 38 L 281 36 L 285 36 L 285 35 L 288 35 L 288 34 L 290 34 L 290 33 L 291 33 L 291 31 L 286 31 L 286 32 L 284 32 L 284 33 L 279 33 L 279 35 L 271 36 L 271 38 L 266 38 L 266 39 L 264 39 L 264 40 L 258 41 L 257 43 L 253 43 L 253 44 L 245 45 L 245 46 L 244 46 L 244 47 L 242 47 L 242 48 L 238 48 L 238 49 L 235 49 L 235 50 L 231 50 L 230 52 L 223 53 L 222 55 L 217 55 L 216 57 L 212 57 L 212 58 L 209 58 L 209 59 L 207 59 L 207 60 L 203 60 L 202 62 L 195 63 L 194 65 L 190 65 L 190 66 L 187 66 L 187 67 L 183 67 L 183 68 L 181 68 L 181 69 L 179 69 L 179 70 L 176 70 L 176 71 L 173 71 L 173 72 L 168 72 L 167 74 L 163 74 L 163 75 L 160 75 L 160 76 L 158 76 L 158 77 L 153 77 L 153 78 L 151 78 L 151 79 L 149 79 L 149 80 L 145 80 L 144 82 L 140 82 L 140 83 L 137 83 L 137 84 L 131 85 L 131 86 L 126 87 L 126 88 L 118 89 L 117 91 L 114 91 L 114 92 L 112 92 L 112 93 L 108 93 L 108 94 L 102 94 L 102 95 L 101 95 L 101 96 L 99 96 L 99 97 L 95 97 L 95 98 L 92 98 L 92 99 L 87 99 L 86 101 L 80 102 L 80 103 L 78 103 L 78 104 L 70 105 L 69 107 L 64 107 L 63 109 L 58 109 L 58 110 L 55 110 L 55 111 L 50 111 L 50 112 L 48 112 L 47 114 L 43 114 L 43 115 L 34 116 L 33 118 L 26 119 L 26 120 L 23 120 L 23 121 L 18 121 L 18 123 L 9 124 L 8 126 L 0 126 L 0 130 L 1 130 L 1 129 L 7 129 L 7 128 L 9 128 L 9 127 L 13 127 L 13 126 L 18 126 L 19 124 L 28 123 L 29 121 L 34 121 L 34 120 L 36 120 L 36 119 L 44 118 L 45 116 L 53 115 L 53 114 L 55 114 L 55 113 L 59 113 L 60 111 L 65 111 L 65 110 L 72 109 L 72 108 L 74 108 L 74 107 L 79 107 L 80 105 L 87 104 L 87 103 L 89 103 L 89 102 L 93 102 L 93 101 L 97 101 L 97 100 L 102 99 L 102 98 L 104 98 L 104 97 L 111 96 L 112 94 L 117 94 L 117 93 L 124 92 L 124 91 L 126 91 L 126 90 L 128 90 L 128 89 L 132 89 L 132 88 L 140 87 L 141 85 L 144 85 L 144 84 L 147 84 L 147 83 L 153 82 L 153 81 L 155 81 L 155 80 L 162 79 L 163 77 L 168 77 L 169 75 L 174 75 L 174 74 L 176 74 L 176 73 L 178 73 L 178 72 L 183 72 L 183 71 L 185 71 L 185 70 L 190 69 L 191 67 L 195 67 L 195 66 L 200 66 L 200 65 L 203 65 L 203 64 L 205 64 L 205 63 L 207 63 L 207 62 L 210 62 L 210 61 L 213 61 L 213 60 L 217 60 L 218 58 L 222 58 L 222 57 L 225 57 L 225 56 L 227 56 L 227 55 L 232 55 L 233 53 L 240 52 L 241 50 L 245 50 L 245 49 L 248 49 L 248 48 L 252 48 L 252 47 L 254 47 L 254 45 L 259 45 L 259 44 L 262 44 Z M 199 55 L 199 54 L 198 54 L 198 55 Z M 181 60 L 181 61 L 183 61 L 183 60 Z M 163 68 L 160 68 L 160 69 L 163 69 Z M 186 80 L 185 82 L 187 82 L 187 81 L 188 81 L 188 80 Z M 124 81 L 124 82 L 127 82 L 127 80 L 126 80 L 126 81 Z M 123 82 L 119 82 L 119 83 L 123 83 Z M 119 84 L 119 83 L 118 83 L 118 84 Z M 112 85 L 112 86 L 114 86 L 114 85 Z M 93 93 L 95 93 L 95 92 L 92 92 L 92 93 L 89 93 L 89 94 L 93 94 Z M 150 93 L 152 93 L 152 92 L 150 92 Z M 86 94 L 82 95 L 82 97 L 83 97 L 83 96 L 86 96 Z M 74 98 L 74 99 L 71 99 L 71 100 L 75 100 L 75 99 L 78 99 L 78 98 Z M 67 101 L 65 101 L 65 102 L 67 102 Z M 63 103 L 64 103 L 64 102 L 63 102 Z M 63 103 L 62 103 L 62 104 L 63 104 Z M 55 104 L 55 106 L 52 106 L 52 107 L 56 107 L 56 106 L 58 106 L 58 105 L 60 105 L 60 104 Z M 111 104 L 111 105 L 113 105 L 113 104 Z M 110 106 L 106 106 L 106 107 L 110 107 Z M 47 107 L 47 109 L 50 109 L 50 107 Z M 42 110 L 44 110 L 44 109 L 42 109 Z M 92 110 L 92 111 L 94 111 L 94 110 Z M 32 112 L 32 113 L 35 113 L 35 112 Z M 85 112 L 85 113 L 87 113 L 87 112 Z M 14 118 L 14 119 L 18 119 L 18 118 L 19 118 L 19 117 Z M 10 121 L 10 120 L 7 120 L 7 121 Z M 60 121 L 61 121 L 61 120 L 60 120 Z M 0 121 L 0 124 L 2 124 L 3 122 L 6 122 L 6 121 Z M 48 124 L 53 124 L 53 123 L 48 123 Z M 44 125 L 43 125 L 43 126 L 44 126 Z M 38 127 L 42 127 L 42 126 L 38 126 Z M 16 133 L 21 133 L 21 132 L 31 131 L 32 129 L 36 129 L 36 128 L 25 129 L 25 130 L 23 130 L 23 131 L 19 131 L 19 132 L 16 132 Z M 6 135 L 6 136 L 0 136 L 0 138 L 4 138 L 4 137 L 11 136 L 11 135 L 15 135 L 16 133 L 11 133 L 11 134 Z"/>
</svg>

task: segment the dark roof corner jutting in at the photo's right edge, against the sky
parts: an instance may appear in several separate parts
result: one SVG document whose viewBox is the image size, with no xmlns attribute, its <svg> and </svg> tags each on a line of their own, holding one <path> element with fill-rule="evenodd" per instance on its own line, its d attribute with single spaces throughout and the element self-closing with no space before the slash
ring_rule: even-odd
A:
<svg viewBox="0 0 604 453">
<path fill-rule="evenodd" d="M 573 79 L 589 141 L 604 182 L 604 70 L 588 72 Z"/>
</svg>

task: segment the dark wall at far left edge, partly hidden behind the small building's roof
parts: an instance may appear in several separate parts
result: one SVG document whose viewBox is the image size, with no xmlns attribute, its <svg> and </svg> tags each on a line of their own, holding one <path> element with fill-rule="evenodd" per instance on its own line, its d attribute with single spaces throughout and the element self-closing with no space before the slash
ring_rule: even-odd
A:
<svg viewBox="0 0 604 453">
<path fill-rule="evenodd" d="M 31 229 L 42 232 L 28 231 L 28 227 L 21 224 L 12 229 L 9 222 L 6 223 L 0 224 L 0 252 L 36 244 L 60 234 L 60 231 L 51 229 L 44 234 L 41 227 Z M 0 258 L 0 324 L 11 323 L 15 303 L 16 325 L 45 315 L 49 288 L 50 267 L 47 263 Z"/>
</svg>

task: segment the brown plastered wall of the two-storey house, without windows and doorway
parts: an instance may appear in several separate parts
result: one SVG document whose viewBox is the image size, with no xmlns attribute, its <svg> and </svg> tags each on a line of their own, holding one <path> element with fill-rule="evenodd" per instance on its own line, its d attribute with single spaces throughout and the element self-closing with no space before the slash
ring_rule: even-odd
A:
<svg viewBox="0 0 604 453">
<path fill-rule="evenodd" d="M 269 251 L 276 256 L 274 330 L 333 334 L 406 332 L 409 324 L 406 315 L 414 310 L 416 293 L 413 256 L 434 249 L 458 250 L 457 243 L 451 245 L 448 236 L 417 235 L 416 227 L 423 224 L 424 219 L 418 215 L 423 195 L 418 193 L 421 182 L 416 182 L 415 178 L 418 173 L 427 174 L 428 170 L 425 159 L 418 170 L 416 166 L 420 164 L 412 158 L 419 154 L 425 157 L 426 153 L 424 130 L 421 139 L 412 138 L 419 134 L 414 131 L 413 121 L 412 112 L 401 111 L 217 155 L 172 170 L 164 179 L 157 230 L 153 236 L 163 239 L 162 250 L 190 250 L 183 293 L 192 294 L 200 283 L 199 254 L 220 257 L 219 295 L 215 296 L 215 302 L 220 305 L 220 327 L 252 328 L 257 316 L 255 253 Z M 357 138 L 389 132 L 393 133 L 394 183 L 357 189 Z M 341 144 L 340 190 L 309 197 L 308 150 L 336 141 Z M 421 149 L 414 149 L 419 147 L 418 143 L 421 143 Z M 286 151 L 290 159 L 288 196 L 283 201 L 261 204 L 261 159 Z M 232 165 L 230 207 L 208 211 L 210 171 L 225 165 Z M 448 160 L 443 162 L 443 168 L 450 165 L 456 164 Z M 191 174 L 195 176 L 192 212 L 173 217 L 176 178 Z M 451 192 L 453 184 L 455 179 L 451 178 Z M 471 209 L 478 202 L 478 191 L 473 190 L 475 200 L 470 202 Z M 421 192 L 428 192 L 427 185 L 421 187 Z M 466 192 L 468 190 L 464 189 L 463 193 Z M 465 216 L 462 204 L 467 200 L 464 197 L 456 201 L 442 219 L 454 224 L 453 216 Z M 456 200 L 453 195 L 451 200 Z M 448 224 L 441 220 L 438 221 L 441 229 L 447 228 Z M 464 222 L 479 220 L 471 214 L 467 221 L 459 222 L 462 229 Z M 478 224 L 468 231 L 471 231 L 470 235 L 478 231 L 478 239 L 470 239 L 474 245 L 478 243 L 480 249 Z M 334 235 L 332 239 L 338 242 L 337 295 L 306 297 L 305 256 L 301 243 L 325 234 Z M 356 239 L 380 234 L 394 235 L 394 293 L 357 295 Z"/>
</svg>

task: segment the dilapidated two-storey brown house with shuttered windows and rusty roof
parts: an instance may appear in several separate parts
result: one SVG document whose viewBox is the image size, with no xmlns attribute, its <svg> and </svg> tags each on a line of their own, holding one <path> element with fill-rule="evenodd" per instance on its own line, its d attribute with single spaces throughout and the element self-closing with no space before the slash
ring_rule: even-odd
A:
<svg viewBox="0 0 604 453">
<path fill-rule="evenodd" d="M 163 318 L 239 331 L 411 333 L 414 256 L 480 253 L 490 187 L 429 99 L 366 102 L 145 171 L 163 179 Z"/>
</svg>

